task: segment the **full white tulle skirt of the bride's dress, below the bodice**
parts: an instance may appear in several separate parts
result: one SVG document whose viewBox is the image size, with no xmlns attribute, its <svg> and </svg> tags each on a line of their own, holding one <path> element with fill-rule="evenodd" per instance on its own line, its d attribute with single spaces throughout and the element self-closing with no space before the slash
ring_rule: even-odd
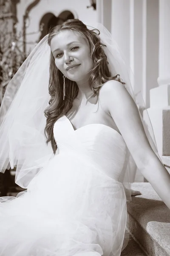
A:
<svg viewBox="0 0 170 256">
<path fill-rule="evenodd" d="M 0 256 L 120 256 L 127 244 L 122 183 L 83 157 L 56 155 L 0 199 Z"/>
</svg>

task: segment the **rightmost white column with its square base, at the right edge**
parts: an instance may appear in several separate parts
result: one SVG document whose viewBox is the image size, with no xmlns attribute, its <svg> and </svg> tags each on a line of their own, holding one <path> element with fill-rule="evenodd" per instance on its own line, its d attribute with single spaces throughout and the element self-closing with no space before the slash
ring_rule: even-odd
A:
<svg viewBox="0 0 170 256">
<path fill-rule="evenodd" d="M 170 156 L 170 1 L 159 1 L 159 87 L 150 90 L 147 110 L 160 156 Z M 170 157 L 169 157 L 170 159 Z M 169 160 L 170 163 L 170 160 Z"/>
</svg>

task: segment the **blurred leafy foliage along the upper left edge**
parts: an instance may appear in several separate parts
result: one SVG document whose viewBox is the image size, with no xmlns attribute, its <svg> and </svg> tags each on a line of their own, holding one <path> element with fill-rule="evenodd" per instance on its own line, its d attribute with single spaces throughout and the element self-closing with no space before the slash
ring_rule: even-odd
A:
<svg viewBox="0 0 170 256">
<path fill-rule="evenodd" d="M 0 105 L 8 82 L 26 59 L 15 22 L 11 1 L 0 0 Z"/>
</svg>

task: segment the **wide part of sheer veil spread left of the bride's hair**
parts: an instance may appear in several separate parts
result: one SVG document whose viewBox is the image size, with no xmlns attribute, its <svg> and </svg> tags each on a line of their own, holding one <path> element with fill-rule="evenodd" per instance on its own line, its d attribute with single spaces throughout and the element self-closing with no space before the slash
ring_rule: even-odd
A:
<svg viewBox="0 0 170 256">
<path fill-rule="evenodd" d="M 15 182 L 23 188 L 53 155 L 44 136 L 44 110 L 50 99 L 47 38 L 37 44 L 11 79 L 0 108 L 0 171 L 17 167 Z"/>
</svg>

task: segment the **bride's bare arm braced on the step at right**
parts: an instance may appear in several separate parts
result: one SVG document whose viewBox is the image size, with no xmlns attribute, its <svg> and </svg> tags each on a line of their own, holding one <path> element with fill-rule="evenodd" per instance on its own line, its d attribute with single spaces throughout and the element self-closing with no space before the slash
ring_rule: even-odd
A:
<svg viewBox="0 0 170 256">
<path fill-rule="evenodd" d="M 119 81 L 108 81 L 102 90 L 108 113 L 119 128 L 142 175 L 170 209 L 170 174 L 154 153 L 144 132 L 138 108 Z"/>
</svg>

